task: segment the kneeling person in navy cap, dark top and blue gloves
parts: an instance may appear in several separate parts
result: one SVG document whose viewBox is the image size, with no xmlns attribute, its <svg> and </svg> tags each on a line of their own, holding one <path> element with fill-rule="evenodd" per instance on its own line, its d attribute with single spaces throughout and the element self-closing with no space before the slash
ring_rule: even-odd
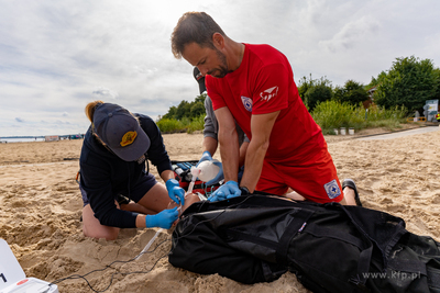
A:
<svg viewBox="0 0 440 293">
<path fill-rule="evenodd" d="M 102 101 L 87 104 L 86 114 L 91 125 L 79 158 L 85 236 L 116 239 L 120 228 L 169 228 L 178 211 L 167 207 L 170 200 L 185 204 L 185 191 L 175 180 L 157 125 Z M 165 185 L 145 170 L 148 160 Z"/>
</svg>

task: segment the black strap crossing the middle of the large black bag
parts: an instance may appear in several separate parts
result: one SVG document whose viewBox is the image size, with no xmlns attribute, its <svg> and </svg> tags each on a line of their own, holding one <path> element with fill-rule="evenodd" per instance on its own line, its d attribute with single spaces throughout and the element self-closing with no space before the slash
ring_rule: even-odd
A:
<svg viewBox="0 0 440 293">
<path fill-rule="evenodd" d="M 307 221 L 314 213 L 315 212 L 310 210 L 296 210 L 296 213 L 293 214 L 294 218 L 292 219 L 290 224 L 288 224 L 283 233 L 282 238 L 279 239 L 279 246 L 276 250 L 277 263 L 288 266 L 287 252 L 290 246 L 290 240 L 307 225 Z"/>
</svg>

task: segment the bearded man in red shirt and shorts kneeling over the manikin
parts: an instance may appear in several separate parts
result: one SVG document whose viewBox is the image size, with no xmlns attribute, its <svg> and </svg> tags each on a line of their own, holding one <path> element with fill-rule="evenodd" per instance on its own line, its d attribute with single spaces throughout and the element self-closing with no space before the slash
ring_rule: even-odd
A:
<svg viewBox="0 0 440 293">
<path fill-rule="evenodd" d="M 219 143 L 227 181 L 213 199 L 254 190 L 286 195 L 290 187 L 314 202 L 360 204 L 355 184 L 343 193 L 321 128 L 298 94 L 292 67 L 268 45 L 229 38 L 205 12 L 185 13 L 172 35 L 174 55 L 206 75 L 220 129 Z M 240 188 L 235 123 L 251 143 Z"/>
</svg>

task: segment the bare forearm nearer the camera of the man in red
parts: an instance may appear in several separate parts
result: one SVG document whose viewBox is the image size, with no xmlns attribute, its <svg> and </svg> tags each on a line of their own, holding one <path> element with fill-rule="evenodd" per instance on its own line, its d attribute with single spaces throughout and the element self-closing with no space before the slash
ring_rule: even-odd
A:
<svg viewBox="0 0 440 293">
<path fill-rule="evenodd" d="M 252 193 L 258 182 L 271 138 L 272 128 L 279 111 L 252 115 L 251 132 L 252 139 L 249 144 L 244 161 L 244 173 L 240 187 L 245 187 Z"/>
</svg>

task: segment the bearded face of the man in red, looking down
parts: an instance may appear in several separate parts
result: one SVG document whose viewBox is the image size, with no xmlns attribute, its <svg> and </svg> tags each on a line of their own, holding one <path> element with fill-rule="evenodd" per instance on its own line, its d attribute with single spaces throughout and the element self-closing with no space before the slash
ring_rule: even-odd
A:
<svg viewBox="0 0 440 293">
<path fill-rule="evenodd" d="M 229 72 L 227 57 L 217 48 L 200 47 L 196 43 L 190 43 L 185 46 L 182 56 L 190 65 L 196 66 L 204 76 L 222 78 Z"/>
</svg>

